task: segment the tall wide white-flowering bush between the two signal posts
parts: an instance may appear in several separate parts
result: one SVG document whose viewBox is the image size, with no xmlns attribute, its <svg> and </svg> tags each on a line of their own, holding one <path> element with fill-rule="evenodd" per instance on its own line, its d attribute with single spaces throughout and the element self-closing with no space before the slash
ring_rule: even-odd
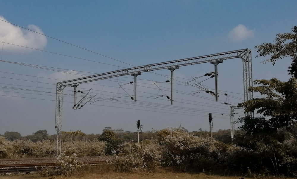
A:
<svg viewBox="0 0 297 179">
<path fill-rule="evenodd" d="M 181 128 L 158 133 L 165 166 L 174 170 L 215 170 L 221 166 L 228 145 L 213 138 L 196 137 Z"/>
</svg>

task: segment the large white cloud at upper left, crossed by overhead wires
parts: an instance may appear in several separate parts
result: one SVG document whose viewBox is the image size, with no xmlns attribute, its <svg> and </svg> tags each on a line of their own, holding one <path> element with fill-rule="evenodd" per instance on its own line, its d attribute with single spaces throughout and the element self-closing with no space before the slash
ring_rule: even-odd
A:
<svg viewBox="0 0 297 179">
<path fill-rule="evenodd" d="M 28 29 L 22 29 L 18 26 L 14 26 L 7 21 L 3 16 L 0 16 L 0 41 L 4 42 L 4 50 L 9 50 L 13 52 L 28 52 L 28 49 L 23 47 L 18 47 L 15 45 L 20 45 L 24 47 L 36 48 L 42 50 L 47 43 L 45 36 L 41 35 L 43 32 L 40 28 L 35 25 L 28 25 Z M 4 20 L 4 21 L 2 21 Z M 38 33 L 35 33 L 35 32 Z M 15 44 L 9 45 L 5 43 Z M 29 50 L 31 51 L 31 50 Z"/>
</svg>

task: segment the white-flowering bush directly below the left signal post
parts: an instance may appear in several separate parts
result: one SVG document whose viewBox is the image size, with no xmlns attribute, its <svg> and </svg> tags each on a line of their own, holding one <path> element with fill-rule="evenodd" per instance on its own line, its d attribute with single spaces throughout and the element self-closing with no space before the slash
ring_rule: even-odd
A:
<svg viewBox="0 0 297 179">
<path fill-rule="evenodd" d="M 134 170 L 154 172 L 160 166 L 160 146 L 154 142 L 141 142 L 139 145 L 126 142 L 120 146 L 121 151 L 113 152 L 113 164 L 117 171 Z"/>
</svg>

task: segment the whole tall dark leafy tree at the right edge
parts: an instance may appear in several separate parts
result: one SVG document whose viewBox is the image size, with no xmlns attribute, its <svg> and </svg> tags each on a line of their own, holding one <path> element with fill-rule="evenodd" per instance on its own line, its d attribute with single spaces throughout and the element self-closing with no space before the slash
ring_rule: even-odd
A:
<svg viewBox="0 0 297 179">
<path fill-rule="evenodd" d="M 271 62 L 274 65 L 279 59 L 292 60 L 288 68 L 292 77 L 287 82 L 276 78 L 255 80 L 258 86 L 250 87 L 249 91 L 260 93 L 264 98 L 254 98 L 238 105 L 247 114 L 253 112 L 262 115 L 238 119 L 239 123 L 243 123 L 239 129 L 246 132 L 238 145 L 261 153 L 263 159 L 267 156 L 278 175 L 279 161 L 283 160 L 287 151 L 282 145 L 285 142 L 283 130 L 292 129 L 297 118 L 297 27 L 293 28 L 292 33 L 277 34 L 274 43 L 263 43 L 255 48 L 257 57 L 270 55 L 263 63 Z"/>
</svg>

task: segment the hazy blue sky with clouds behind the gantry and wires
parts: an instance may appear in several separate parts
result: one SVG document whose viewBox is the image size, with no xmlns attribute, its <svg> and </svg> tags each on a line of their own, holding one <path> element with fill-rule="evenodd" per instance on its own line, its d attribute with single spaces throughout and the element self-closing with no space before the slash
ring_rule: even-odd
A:
<svg viewBox="0 0 297 179">
<path fill-rule="evenodd" d="M 2 0 L 0 19 L 9 23 L 0 21 L 0 134 L 16 131 L 28 135 L 41 129 L 53 134 L 56 83 L 81 75 L 249 48 L 254 80 L 288 80 L 290 59 L 277 61 L 275 66 L 261 64 L 266 58 L 255 58 L 254 47 L 273 42 L 277 33 L 291 31 L 296 25 L 296 5 L 293 0 Z M 92 88 L 91 95 L 97 97 L 97 102 L 80 110 L 72 109 L 74 89 L 66 87 L 62 130 L 90 134 L 101 133 L 108 126 L 136 131 L 137 120 L 144 131 L 180 124 L 189 131 L 209 130 L 208 113 L 213 114 L 214 131 L 230 129 L 230 105 L 222 103 L 236 105 L 243 100 L 241 60 L 218 65 L 220 93 L 228 94 L 219 96 L 219 102 L 203 91 L 191 95 L 197 88 L 184 83 L 213 70 L 211 64 L 176 70 L 173 105 L 161 97 L 170 95 L 170 84 L 154 85 L 170 78 L 168 70 L 138 76 L 137 102 L 127 97 L 134 93 L 133 85 L 123 86 L 128 94 L 119 86 L 134 80 L 129 75 L 79 85 L 83 91 Z M 214 79 L 202 84 L 213 89 Z M 243 116 L 242 110 L 236 115 Z"/>
</svg>

